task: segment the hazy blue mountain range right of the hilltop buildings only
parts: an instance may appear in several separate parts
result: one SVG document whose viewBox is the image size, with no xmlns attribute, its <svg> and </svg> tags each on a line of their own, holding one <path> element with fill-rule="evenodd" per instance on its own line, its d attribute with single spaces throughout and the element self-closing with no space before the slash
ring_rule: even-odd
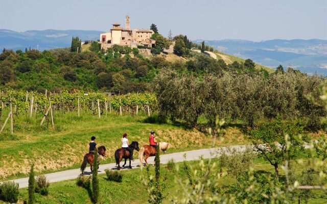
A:
<svg viewBox="0 0 327 204">
<path fill-rule="evenodd" d="M 302 72 L 327 75 L 327 40 L 204 40 L 223 53 L 276 68 L 279 64 Z M 200 43 L 202 40 L 194 42 Z"/>
</svg>

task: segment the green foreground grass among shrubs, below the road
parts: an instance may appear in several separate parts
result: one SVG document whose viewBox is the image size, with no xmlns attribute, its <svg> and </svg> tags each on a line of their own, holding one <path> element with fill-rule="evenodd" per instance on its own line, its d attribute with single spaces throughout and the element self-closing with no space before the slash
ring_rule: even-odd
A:
<svg viewBox="0 0 327 204">
<path fill-rule="evenodd" d="M 190 162 L 191 165 L 197 164 L 197 162 Z M 178 174 L 184 181 L 188 181 L 185 172 L 182 170 L 182 163 L 178 163 L 180 166 L 180 171 Z M 175 181 L 174 174 L 175 171 L 168 171 L 165 169 L 166 165 L 161 165 L 161 175 L 166 175 L 167 180 L 167 189 L 165 194 L 167 198 L 164 200 L 164 203 L 172 203 L 171 199 L 173 197 L 180 197 L 182 191 L 180 190 L 183 187 L 180 187 L 180 184 Z M 295 169 L 298 171 L 302 167 L 297 165 Z M 152 171 L 154 167 L 151 168 Z M 262 159 L 255 161 L 254 170 L 258 171 L 269 171 L 274 172 L 273 167 L 264 162 Z M 100 173 L 100 172 L 99 172 Z M 100 201 L 99 203 L 147 203 L 148 195 L 145 187 L 143 186 L 139 169 L 133 169 L 128 171 L 122 171 L 123 182 L 115 183 L 107 181 L 105 179 L 105 174 L 99 174 L 100 178 Z M 281 177 L 283 177 L 284 172 L 281 171 Z M 41 196 L 37 194 L 36 200 L 37 203 L 91 203 L 88 193 L 85 189 L 76 186 L 75 180 L 69 180 L 65 182 L 58 182 L 50 185 L 50 194 L 48 196 Z M 236 180 L 227 175 L 220 180 L 220 186 L 228 186 L 232 183 L 235 183 Z M 325 203 L 327 196 L 323 194 L 322 191 L 314 191 L 315 195 L 310 199 L 309 203 Z M 28 198 L 28 190 L 20 189 L 20 200 Z"/>
</svg>

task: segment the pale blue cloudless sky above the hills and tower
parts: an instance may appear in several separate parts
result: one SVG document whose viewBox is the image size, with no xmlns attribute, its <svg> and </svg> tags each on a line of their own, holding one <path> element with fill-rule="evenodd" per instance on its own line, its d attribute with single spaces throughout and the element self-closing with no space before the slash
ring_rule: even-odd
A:
<svg viewBox="0 0 327 204">
<path fill-rule="evenodd" d="M 326 0 L 0 0 L 0 29 L 98 30 L 157 24 L 192 40 L 327 39 Z"/>
</svg>

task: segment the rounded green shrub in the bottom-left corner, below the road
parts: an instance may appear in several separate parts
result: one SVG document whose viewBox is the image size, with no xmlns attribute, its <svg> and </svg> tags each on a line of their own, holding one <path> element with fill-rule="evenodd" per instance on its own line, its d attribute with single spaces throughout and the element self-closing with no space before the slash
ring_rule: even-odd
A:
<svg viewBox="0 0 327 204">
<path fill-rule="evenodd" d="M 14 182 L 4 182 L 0 185 L 0 199 L 5 202 L 18 201 L 18 184 Z"/>
</svg>

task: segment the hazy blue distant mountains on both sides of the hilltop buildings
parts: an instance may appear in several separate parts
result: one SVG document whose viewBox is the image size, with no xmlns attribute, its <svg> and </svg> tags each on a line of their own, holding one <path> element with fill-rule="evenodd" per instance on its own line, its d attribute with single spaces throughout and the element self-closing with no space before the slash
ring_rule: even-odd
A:
<svg viewBox="0 0 327 204">
<path fill-rule="evenodd" d="M 44 30 L 15 32 L 0 29 L 0 52 L 6 49 L 40 50 L 70 47 L 72 37 L 84 40 L 98 40 L 103 31 Z M 327 75 L 327 40 L 267 40 L 261 42 L 247 40 L 204 40 L 205 44 L 223 53 L 240 58 L 250 58 L 256 63 L 275 68 L 279 64 L 285 69 L 291 66 L 302 72 Z M 202 42 L 195 40 L 194 42 Z"/>
</svg>

